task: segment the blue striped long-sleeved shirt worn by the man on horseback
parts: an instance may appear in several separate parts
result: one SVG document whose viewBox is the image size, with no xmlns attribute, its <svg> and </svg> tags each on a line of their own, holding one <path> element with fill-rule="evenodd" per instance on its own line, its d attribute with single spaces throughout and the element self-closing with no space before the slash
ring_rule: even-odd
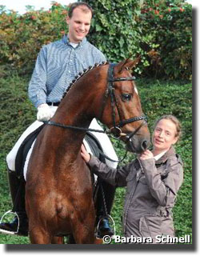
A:
<svg viewBox="0 0 200 256">
<path fill-rule="evenodd" d="M 43 46 L 38 54 L 29 84 L 29 98 L 35 107 L 46 102 L 60 102 L 70 82 L 78 73 L 106 62 L 106 57 L 84 38 L 76 48 L 66 35 Z"/>
</svg>

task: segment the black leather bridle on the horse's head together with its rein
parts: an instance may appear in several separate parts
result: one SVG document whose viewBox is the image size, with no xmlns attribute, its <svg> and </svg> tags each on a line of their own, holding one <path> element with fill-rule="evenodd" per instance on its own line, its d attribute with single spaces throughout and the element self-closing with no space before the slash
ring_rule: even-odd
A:
<svg viewBox="0 0 200 256">
<path fill-rule="evenodd" d="M 53 121 L 45 121 L 44 123 L 46 125 L 58 126 L 58 127 L 66 128 L 66 129 L 94 131 L 94 132 L 98 132 L 98 133 L 114 134 L 115 138 L 120 138 L 122 136 L 126 136 L 126 139 L 130 140 L 130 138 L 132 138 L 134 136 L 134 134 L 136 134 L 138 132 L 138 130 L 142 127 L 142 125 L 147 122 L 147 118 L 146 118 L 146 116 L 139 116 L 139 117 L 134 117 L 134 118 L 129 118 L 129 119 L 122 120 L 122 115 L 120 113 L 120 109 L 119 109 L 119 106 L 118 106 L 118 101 L 117 101 L 117 98 L 116 98 L 116 95 L 115 95 L 114 82 L 133 81 L 135 78 L 134 77 L 114 78 L 114 66 L 116 66 L 116 64 L 114 64 L 114 63 L 109 65 L 108 84 L 107 84 L 106 92 L 105 92 L 105 95 L 104 95 L 105 100 L 104 100 L 104 103 L 102 105 L 102 110 L 100 112 L 100 117 L 102 117 L 102 113 L 104 111 L 107 98 L 109 98 L 109 95 L 110 95 L 111 106 L 112 106 L 113 127 L 111 127 L 109 130 L 104 131 L 104 130 L 83 128 L 83 127 L 78 127 L 78 126 L 66 126 L 66 125 L 63 125 L 63 124 L 60 124 L 60 123 L 57 123 L 57 122 L 53 122 Z M 120 119 L 120 122 L 118 122 L 118 124 L 116 124 L 116 122 L 115 122 L 115 106 L 117 107 L 118 116 L 119 116 L 119 119 Z M 128 124 L 130 122 L 137 122 L 137 121 L 141 121 L 141 120 L 143 120 L 144 122 L 142 122 L 141 126 L 139 126 L 136 130 L 134 130 L 134 132 L 132 132 L 129 135 L 122 133 L 122 130 L 121 130 L 122 126 L 125 126 L 126 124 Z"/>
</svg>

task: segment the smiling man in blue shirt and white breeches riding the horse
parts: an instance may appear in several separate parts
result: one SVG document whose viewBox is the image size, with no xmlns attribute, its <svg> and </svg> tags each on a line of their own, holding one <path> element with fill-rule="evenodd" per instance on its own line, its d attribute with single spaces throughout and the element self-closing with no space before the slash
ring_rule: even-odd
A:
<svg viewBox="0 0 200 256">
<path fill-rule="evenodd" d="M 3 233 L 14 232 L 18 230 L 19 235 L 28 234 L 28 220 L 25 209 L 25 181 L 16 175 L 15 159 L 18 149 L 22 142 L 29 134 L 42 126 L 42 122 L 48 121 L 54 115 L 61 99 L 63 92 L 70 85 L 74 77 L 89 66 L 95 63 L 106 61 L 105 56 L 100 50 L 86 40 L 86 35 L 90 30 L 90 22 L 93 10 L 85 2 L 75 2 L 70 6 L 66 23 L 69 26 L 69 32 L 57 42 L 52 42 L 42 47 L 38 54 L 34 73 L 29 84 L 29 97 L 34 106 L 38 109 L 37 119 L 22 134 L 14 148 L 7 155 L 6 162 L 8 165 L 8 177 L 10 182 L 10 194 L 14 205 L 14 211 L 18 214 L 13 222 L 2 222 L 0 231 Z M 95 121 L 91 124 L 92 128 L 102 129 Z M 91 127 L 90 126 L 90 127 Z M 98 138 L 98 134 L 95 134 Z M 110 158 L 118 160 L 117 155 L 106 134 L 103 134 L 104 146 L 102 150 L 109 154 Z M 102 142 L 98 139 L 98 142 Z M 106 144 L 106 147 L 105 147 Z M 110 166 L 116 168 L 116 162 L 107 162 Z M 114 187 L 106 182 L 102 182 L 104 196 L 106 198 L 107 214 L 110 214 L 111 206 L 114 200 Z M 101 190 L 99 190 L 101 192 Z M 102 196 L 98 194 L 97 219 L 102 219 L 99 230 L 102 235 L 112 234 L 107 218 L 102 218 L 104 206 L 102 205 Z M 99 234 L 101 236 L 101 234 Z"/>
</svg>

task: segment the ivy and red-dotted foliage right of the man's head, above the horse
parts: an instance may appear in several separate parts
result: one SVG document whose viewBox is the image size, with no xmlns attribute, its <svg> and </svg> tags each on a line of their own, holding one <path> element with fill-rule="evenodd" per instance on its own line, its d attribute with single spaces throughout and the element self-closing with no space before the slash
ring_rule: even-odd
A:
<svg viewBox="0 0 200 256">
<path fill-rule="evenodd" d="M 192 72 L 192 6 L 184 0 L 86 0 L 94 8 L 90 41 L 111 61 L 140 54 L 138 74 L 189 79 Z"/>
</svg>

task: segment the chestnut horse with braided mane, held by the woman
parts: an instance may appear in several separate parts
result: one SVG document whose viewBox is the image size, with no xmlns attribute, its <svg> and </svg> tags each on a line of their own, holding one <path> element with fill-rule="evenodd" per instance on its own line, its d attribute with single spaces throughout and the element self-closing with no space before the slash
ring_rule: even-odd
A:
<svg viewBox="0 0 200 256">
<path fill-rule="evenodd" d="M 76 243 L 97 242 L 90 170 L 80 149 L 93 118 L 121 136 L 129 150 L 146 149 L 150 133 L 129 71 L 137 62 L 103 63 L 80 74 L 38 134 L 26 180 L 31 243 L 48 244 L 66 234 Z"/>
</svg>

